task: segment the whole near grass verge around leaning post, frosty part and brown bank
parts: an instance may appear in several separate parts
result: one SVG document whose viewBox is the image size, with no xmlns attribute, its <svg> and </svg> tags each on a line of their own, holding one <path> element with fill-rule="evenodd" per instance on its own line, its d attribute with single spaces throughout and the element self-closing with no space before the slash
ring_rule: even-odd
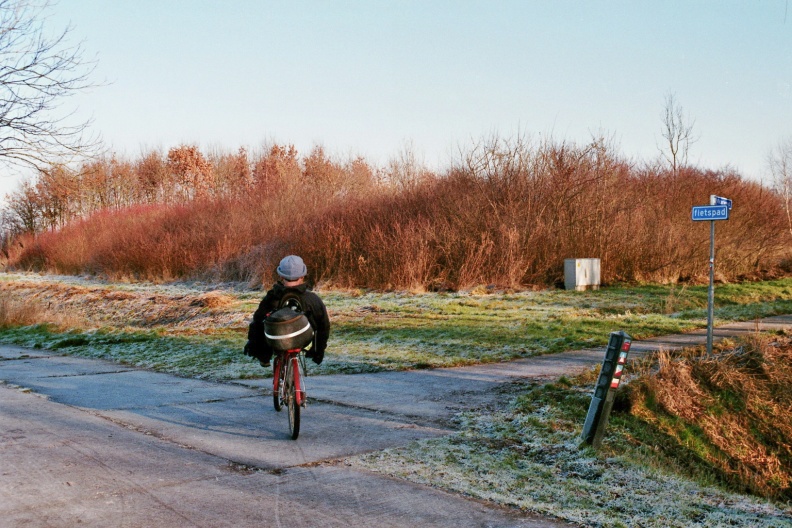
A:
<svg viewBox="0 0 792 528">
<path fill-rule="evenodd" d="M 717 359 L 702 359 L 701 350 L 666 356 L 669 361 L 659 372 L 644 370 L 627 385 L 631 390 L 621 393 L 600 451 L 580 445 L 595 369 L 553 383 L 506 388 L 507 406 L 461 414 L 458 434 L 346 463 L 584 526 L 788 528 L 792 460 L 785 435 L 792 408 L 783 380 L 792 373 L 792 363 L 786 361 L 792 339 L 780 339 L 780 346 L 771 345 L 772 340 L 744 342 L 742 348 L 722 350 Z M 718 361 L 734 358 L 735 350 L 741 359 Z M 694 356 L 700 373 L 680 386 L 677 373 Z M 779 367 L 783 372 L 762 380 L 757 362 L 767 372 Z M 713 370 L 716 363 L 721 367 Z M 767 407 L 761 418 L 741 406 L 738 396 L 724 402 L 725 372 L 735 383 L 752 373 L 751 388 L 742 394 L 750 394 L 746 400 L 752 406 Z M 674 407 L 674 402 L 688 401 L 683 397 L 691 391 L 699 391 L 707 405 L 720 405 L 705 413 L 719 426 L 697 425 L 700 419 Z M 734 423 L 745 425 L 734 431 L 742 441 L 728 449 L 721 436 Z M 748 445 L 752 448 L 745 449 Z M 766 463 L 756 453 L 763 453 Z M 731 471 L 735 467 L 748 469 Z M 765 498 L 740 493 L 744 491 Z"/>
</svg>

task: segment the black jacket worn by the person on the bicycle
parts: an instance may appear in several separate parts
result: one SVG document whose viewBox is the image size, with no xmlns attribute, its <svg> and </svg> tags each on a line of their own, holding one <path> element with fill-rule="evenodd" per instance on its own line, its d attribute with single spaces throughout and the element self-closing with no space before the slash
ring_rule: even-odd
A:
<svg viewBox="0 0 792 528">
<path fill-rule="evenodd" d="M 248 347 L 254 357 L 269 358 L 272 355 L 272 349 L 264 337 L 264 319 L 278 308 L 280 300 L 289 292 L 297 293 L 300 296 L 305 315 L 314 330 L 313 350 L 319 356 L 324 355 L 327 339 L 330 337 L 330 318 L 327 316 L 327 308 L 325 308 L 322 299 L 309 290 L 307 284 L 287 288 L 277 282 L 261 300 L 258 309 L 253 314 L 253 322 L 248 328 Z"/>
</svg>

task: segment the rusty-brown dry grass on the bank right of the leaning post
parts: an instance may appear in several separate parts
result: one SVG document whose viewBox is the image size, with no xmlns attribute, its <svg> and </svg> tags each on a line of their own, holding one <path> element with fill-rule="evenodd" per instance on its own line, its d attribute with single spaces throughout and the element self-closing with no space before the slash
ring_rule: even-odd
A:
<svg viewBox="0 0 792 528">
<path fill-rule="evenodd" d="M 755 334 L 711 356 L 657 360 L 657 371 L 630 384 L 633 414 L 729 485 L 791 500 L 792 339 Z"/>
</svg>

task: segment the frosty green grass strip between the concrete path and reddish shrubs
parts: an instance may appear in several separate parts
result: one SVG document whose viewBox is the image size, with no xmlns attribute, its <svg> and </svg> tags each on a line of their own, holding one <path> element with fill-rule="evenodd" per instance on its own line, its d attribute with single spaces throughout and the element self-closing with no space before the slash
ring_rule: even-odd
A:
<svg viewBox="0 0 792 528">
<path fill-rule="evenodd" d="M 6 274 L 0 280 L 13 293 L 15 282 L 30 277 Z M 60 297 L 62 306 L 52 308 L 81 312 L 87 322 L 71 329 L 45 325 L 3 330 L 0 342 L 101 357 L 183 376 L 222 380 L 269 375 L 269 370 L 241 354 L 246 326 L 262 292 L 215 290 L 232 301 L 211 310 L 184 300 L 205 293 L 206 288 L 200 285 L 113 285 L 54 277 L 37 280 L 42 291 L 52 284 L 90 288 L 97 300 L 86 300 L 88 294 L 83 292 Z M 25 291 L 30 297 L 30 291 Z M 129 308 L 130 300 L 102 300 L 119 291 L 154 300 L 140 303 L 137 311 Z M 39 296 L 41 302 L 48 299 L 45 293 Z M 604 346 L 614 330 L 644 339 L 706 326 L 706 286 L 627 285 L 586 292 L 481 295 L 319 293 L 330 312 L 332 332 L 326 360 L 312 369 L 315 374 L 505 361 Z M 74 304 L 79 299 L 83 301 Z M 149 302 L 165 308 L 154 316 L 152 305 L 146 304 Z M 792 278 L 716 288 L 716 324 L 780 313 L 792 313 Z"/>
</svg>

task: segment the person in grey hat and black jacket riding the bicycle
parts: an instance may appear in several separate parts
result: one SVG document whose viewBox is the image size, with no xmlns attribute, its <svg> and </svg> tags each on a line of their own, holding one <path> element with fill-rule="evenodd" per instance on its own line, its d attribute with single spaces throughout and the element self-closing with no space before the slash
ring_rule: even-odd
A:
<svg viewBox="0 0 792 528">
<path fill-rule="evenodd" d="M 290 298 L 296 298 L 301 311 L 305 313 L 314 331 L 313 346 L 305 355 L 319 365 L 324 359 L 327 338 L 330 337 L 330 318 L 327 316 L 327 309 L 322 299 L 312 292 L 305 283 L 308 268 L 300 257 L 297 255 L 283 257 L 276 272 L 281 280 L 267 292 L 253 314 L 253 322 L 248 328 L 245 355 L 258 359 L 262 367 L 270 366 L 272 348 L 264 337 L 264 319 L 271 312 L 280 308 L 281 300 L 289 294 Z"/>
</svg>

